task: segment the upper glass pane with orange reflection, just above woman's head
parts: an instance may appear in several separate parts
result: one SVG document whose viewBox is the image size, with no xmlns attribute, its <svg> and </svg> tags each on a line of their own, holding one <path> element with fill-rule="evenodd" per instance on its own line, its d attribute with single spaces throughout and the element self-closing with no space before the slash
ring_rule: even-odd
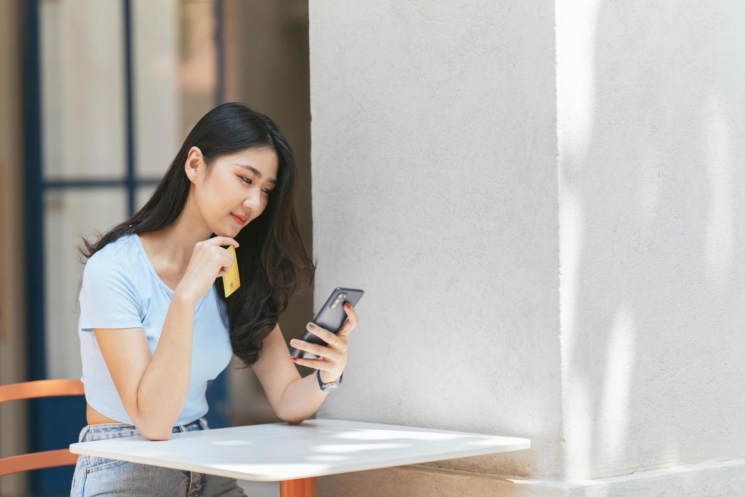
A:
<svg viewBox="0 0 745 497">
<path fill-rule="evenodd" d="M 215 4 L 133 2 L 135 163 L 162 177 L 188 131 L 215 107 Z"/>
</svg>

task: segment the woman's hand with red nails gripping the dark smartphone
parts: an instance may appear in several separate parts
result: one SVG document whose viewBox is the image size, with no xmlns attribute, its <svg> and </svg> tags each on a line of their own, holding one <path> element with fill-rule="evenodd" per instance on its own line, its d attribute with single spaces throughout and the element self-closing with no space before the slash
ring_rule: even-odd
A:
<svg viewBox="0 0 745 497">
<path fill-rule="evenodd" d="M 352 329 L 355 329 L 357 323 L 360 322 L 357 312 L 355 312 L 355 309 L 349 303 L 345 302 L 343 308 L 346 311 L 346 321 L 341 325 L 336 335 L 315 323 L 308 323 L 305 326 L 309 332 L 325 341 L 328 344 L 327 346 L 311 344 L 297 338 L 293 338 L 290 341 L 290 345 L 296 349 L 305 350 L 305 352 L 311 352 L 311 354 L 321 357 L 320 359 L 297 358 L 295 362 L 302 366 L 320 370 L 321 381 L 324 383 L 335 382 L 341 376 L 341 373 L 346 367 L 346 349 L 349 347 L 349 334 L 352 332 Z M 312 329 L 311 326 L 313 327 Z"/>
</svg>

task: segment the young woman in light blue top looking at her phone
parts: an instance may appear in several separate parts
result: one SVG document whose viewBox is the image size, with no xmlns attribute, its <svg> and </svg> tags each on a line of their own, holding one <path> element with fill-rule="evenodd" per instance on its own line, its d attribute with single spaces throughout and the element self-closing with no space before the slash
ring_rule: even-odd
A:
<svg viewBox="0 0 745 497">
<path fill-rule="evenodd" d="M 328 384 L 340 382 L 358 317 L 345 305 L 337 335 L 308 323 L 328 346 L 293 340 L 321 358 L 290 357 L 277 318 L 316 268 L 297 228 L 296 174 L 270 118 L 222 104 L 197 122 L 139 212 L 95 243 L 83 240 L 80 442 L 209 429 L 207 381 L 233 354 L 253 367 L 279 418 L 298 424 L 317 411 Z M 225 297 L 228 245 L 241 285 Z M 294 364 L 316 372 L 301 378 Z M 233 478 L 80 455 L 70 495 L 245 494 Z"/>
</svg>

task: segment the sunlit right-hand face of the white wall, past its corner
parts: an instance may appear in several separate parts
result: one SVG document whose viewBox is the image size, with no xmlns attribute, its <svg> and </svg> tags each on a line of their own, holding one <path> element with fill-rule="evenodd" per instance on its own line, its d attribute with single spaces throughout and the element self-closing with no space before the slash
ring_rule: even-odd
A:
<svg viewBox="0 0 745 497">
<path fill-rule="evenodd" d="M 745 4 L 556 5 L 567 476 L 743 458 Z"/>
</svg>

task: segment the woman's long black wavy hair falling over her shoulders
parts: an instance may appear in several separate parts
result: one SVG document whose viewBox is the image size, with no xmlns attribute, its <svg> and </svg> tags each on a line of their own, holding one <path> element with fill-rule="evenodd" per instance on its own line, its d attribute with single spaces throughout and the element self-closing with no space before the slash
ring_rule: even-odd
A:
<svg viewBox="0 0 745 497">
<path fill-rule="evenodd" d="M 282 130 L 266 115 L 241 102 L 227 102 L 210 110 L 188 133 L 148 203 L 104 235 L 98 232 L 95 243 L 83 238 L 84 246 L 77 250 L 83 255 L 80 262 L 84 264 L 122 235 L 156 231 L 173 224 L 188 197 L 191 182 L 184 165 L 194 146 L 202 151 L 206 174 L 218 157 L 247 149 L 272 148 L 279 158 L 277 185 L 264 212 L 233 237 L 240 244 L 235 255 L 241 286 L 226 299 L 221 278 L 215 279 L 215 289 L 227 310 L 233 353 L 243 361 L 239 368 L 243 369 L 259 359 L 261 341 L 274 329 L 290 298 L 310 288 L 316 270 L 297 227 L 295 159 Z"/>
</svg>

